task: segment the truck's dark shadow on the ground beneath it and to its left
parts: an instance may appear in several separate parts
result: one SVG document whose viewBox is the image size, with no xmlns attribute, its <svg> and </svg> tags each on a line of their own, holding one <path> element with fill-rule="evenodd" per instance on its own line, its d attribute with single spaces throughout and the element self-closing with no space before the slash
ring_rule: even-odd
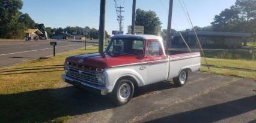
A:
<svg viewBox="0 0 256 123">
<path fill-rule="evenodd" d="M 140 88 L 137 96 L 173 87 L 169 82 L 159 82 Z M 49 122 L 62 116 L 81 115 L 114 107 L 108 96 L 73 86 L 5 94 L 0 95 L 0 122 Z"/>
</svg>

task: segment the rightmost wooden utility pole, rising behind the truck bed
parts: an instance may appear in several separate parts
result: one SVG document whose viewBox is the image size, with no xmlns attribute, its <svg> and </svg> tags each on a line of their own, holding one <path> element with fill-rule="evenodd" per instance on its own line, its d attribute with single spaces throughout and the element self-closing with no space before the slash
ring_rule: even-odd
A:
<svg viewBox="0 0 256 123">
<path fill-rule="evenodd" d="M 172 20 L 172 6 L 173 0 L 169 0 L 169 15 L 168 15 L 168 26 L 166 32 L 166 46 L 165 46 L 165 53 L 169 54 L 169 42 L 171 42 L 171 20 Z"/>
</svg>

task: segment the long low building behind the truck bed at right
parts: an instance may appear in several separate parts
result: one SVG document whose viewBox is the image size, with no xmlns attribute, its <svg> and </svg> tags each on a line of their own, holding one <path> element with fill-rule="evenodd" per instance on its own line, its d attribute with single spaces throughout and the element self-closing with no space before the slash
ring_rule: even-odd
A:
<svg viewBox="0 0 256 123">
<path fill-rule="evenodd" d="M 182 32 L 184 40 L 191 48 L 198 48 L 194 31 Z M 250 33 L 197 31 L 203 48 L 238 48 L 251 36 Z M 180 33 L 174 33 L 171 47 L 186 47 Z"/>
</svg>

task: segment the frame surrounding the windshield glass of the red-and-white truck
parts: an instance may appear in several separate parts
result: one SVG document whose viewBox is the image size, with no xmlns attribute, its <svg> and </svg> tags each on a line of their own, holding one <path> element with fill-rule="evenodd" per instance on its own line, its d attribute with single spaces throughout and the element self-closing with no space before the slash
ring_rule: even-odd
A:
<svg viewBox="0 0 256 123">
<path fill-rule="evenodd" d="M 145 55 L 145 43 L 146 43 L 146 41 L 145 41 L 145 39 L 142 39 L 142 38 L 111 38 L 111 41 L 109 42 L 108 46 L 106 47 L 106 50 L 105 50 L 106 53 L 114 53 L 114 52 L 112 52 L 112 51 L 108 51 L 108 50 L 111 48 L 111 44 L 114 42 L 114 39 L 137 39 L 137 40 L 139 40 L 139 41 L 143 41 L 144 47 L 143 47 L 143 52 L 142 52 L 141 55 L 136 55 L 136 54 L 127 54 L 127 55 L 144 57 L 144 55 Z M 121 53 L 115 53 L 115 54 L 121 54 Z"/>
</svg>

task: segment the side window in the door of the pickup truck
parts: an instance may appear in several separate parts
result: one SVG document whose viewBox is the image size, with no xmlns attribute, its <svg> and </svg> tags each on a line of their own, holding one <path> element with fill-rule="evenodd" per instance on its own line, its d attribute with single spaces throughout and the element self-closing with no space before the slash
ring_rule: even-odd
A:
<svg viewBox="0 0 256 123">
<path fill-rule="evenodd" d="M 148 41 L 148 56 L 160 56 L 160 44 L 158 41 Z"/>
</svg>

